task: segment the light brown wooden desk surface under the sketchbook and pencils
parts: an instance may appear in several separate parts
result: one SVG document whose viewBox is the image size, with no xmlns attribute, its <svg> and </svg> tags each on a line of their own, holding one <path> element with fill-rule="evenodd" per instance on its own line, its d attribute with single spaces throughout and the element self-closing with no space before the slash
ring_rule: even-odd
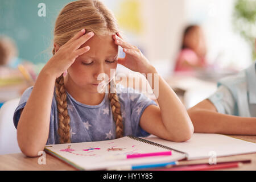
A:
<svg viewBox="0 0 256 182">
<path fill-rule="evenodd" d="M 232 136 L 235 138 L 247 140 L 248 142 L 256 143 L 256 136 Z M 76 170 L 72 166 L 62 162 L 55 157 L 46 154 L 46 164 L 38 164 L 38 158 L 27 158 L 23 154 L 7 154 L 0 155 L 0 170 L 1 171 L 59 171 L 59 170 L 67 170 L 73 171 Z M 243 166 L 239 168 L 229 168 L 223 170 L 256 170 L 256 153 L 254 154 L 245 154 L 245 155 L 235 155 L 235 156 L 227 156 L 217 158 L 218 162 L 223 162 L 227 160 L 244 160 L 251 159 L 250 164 L 243 164 Z M 181 161 L 180 164 L 193 164 L 193 163 L 208 163 L 208 159 L 203 160 L 191 160 L 191 161 Z"/>
</svg>

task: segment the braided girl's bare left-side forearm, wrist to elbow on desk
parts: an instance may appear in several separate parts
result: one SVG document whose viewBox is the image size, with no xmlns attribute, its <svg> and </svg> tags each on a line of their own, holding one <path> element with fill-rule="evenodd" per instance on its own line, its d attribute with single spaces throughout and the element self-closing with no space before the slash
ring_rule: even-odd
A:
<svg viewBox="0 0 256 182">
<path fill-rule="evenodd" d="M 37 156 L 46 145 L 55 78 L 40 72 L 30 98 L 20 115 L 17 139 L 20 150 L 27 156 Z"/>
</svg>

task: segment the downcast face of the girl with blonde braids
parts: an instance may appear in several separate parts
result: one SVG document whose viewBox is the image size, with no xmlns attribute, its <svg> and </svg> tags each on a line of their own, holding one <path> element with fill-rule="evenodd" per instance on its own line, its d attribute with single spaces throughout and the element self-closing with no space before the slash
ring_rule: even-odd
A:
<svg viewBox="0 0 256 182">
<path fill-rule="evenodd" d="M 90 93 L 97 93 L 98 75 L 105 73 L 110 79 L 110 69 L 117 68 L 118 46 L 114 43 L 113 35 L 97 36 L 88 40 L 82 47 L 89 46 L 90 50 L 77 57 L 69 67 L 68 76 L 79 88 Z"/>
</svg>

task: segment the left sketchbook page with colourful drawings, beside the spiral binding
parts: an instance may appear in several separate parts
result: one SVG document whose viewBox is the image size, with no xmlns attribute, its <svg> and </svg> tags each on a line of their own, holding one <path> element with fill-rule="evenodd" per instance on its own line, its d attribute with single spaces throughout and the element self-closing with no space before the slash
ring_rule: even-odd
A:
<svg viewBox="0 0 256 182">
<path fill-rule="evenodd" d="M 79 170 L 106 170 L 127 165 L 174 162 L 185 159 L 186 154 L 162 144 L 150 142 L 138 137 L 123 137 L 100 142 L 84 142 L 48 145 L 44 150 Z M 151 156 L 146 158 L 109 160 L 118 155 L 143 154 L 172 151 L 169 156 Z"/>
</svg>

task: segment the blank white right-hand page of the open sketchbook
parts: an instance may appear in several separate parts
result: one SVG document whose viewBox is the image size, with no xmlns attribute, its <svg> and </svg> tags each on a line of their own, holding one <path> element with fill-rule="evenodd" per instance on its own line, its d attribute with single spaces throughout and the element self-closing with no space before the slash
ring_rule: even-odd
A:
<svg viewBox="0 0 256 182">
<path fill-rule="evenodd" d="M 209 159 L 210 156 L 230 156 L 256 152 L 256 143 L 220 134 L 194 133 L 187 142 L 177 143 L 157 137 L 146 138 L 151 142 L 185 152 L 188 160 Z"/>
</svg>

